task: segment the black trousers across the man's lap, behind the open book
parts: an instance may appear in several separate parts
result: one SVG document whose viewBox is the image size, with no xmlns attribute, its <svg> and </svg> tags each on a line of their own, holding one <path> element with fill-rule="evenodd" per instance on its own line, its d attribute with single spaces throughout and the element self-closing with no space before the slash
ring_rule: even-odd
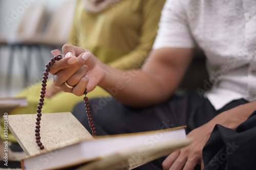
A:
<svg viewBox="0 0 256 170">
<path fill-rule="evenodd" d="M 142 109 L 127 107 L 113 98 L 89 99 L 89 102 L 97 135 L 151 131 L 184 125 L 187 126 L 186 133 L 189 133 L 219 113 L 248 103 L 240 99 L 216 111 L 208 99 L 201 98 L 192 91 L 173 95 L 165 103 Z M 83 102 L 75 106 L 73 114 L 90 132 Z M 136 169 L 162 169 L 164 159 L 157 159 Z"/>
</svg>

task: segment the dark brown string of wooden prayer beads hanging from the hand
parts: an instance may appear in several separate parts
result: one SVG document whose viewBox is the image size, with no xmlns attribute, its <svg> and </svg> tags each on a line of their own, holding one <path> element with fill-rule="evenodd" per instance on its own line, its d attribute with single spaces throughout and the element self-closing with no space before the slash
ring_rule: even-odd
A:
<svg viewBox="0 0 256 170">
<path fill-rule="evenodd" d="M 40 141 L 41 137 L 40 137 L 40 120 L 41 120 L 41 109 L 42 109 L 42 105 L 44 105 L 44 101 L 45 101 L 45 93 L 46 93 L 46 83 L 47 83 L 47 79 L 48 79 L 48 75 L 49 75 L 49 71 L 50 71 L 50 67 L 56 62 L 62 59 L 61 55 L 58 56 L 54 56 L 53 58 L 51 58 L 51 61 L 49 61 L 48 64 L 46 64 L 46 69 L 44 72 L 44 76 L 42 77 L 42 87 L 41 87 L 41 94 L 40 94 L 40 99 L 39 99 L 39 103 L 37 105 L 37 117 L 36 117 L 36 126 L 35 126 L 35 139 L 36 139 L 36 143 L 38 145 L 38 147 L 40 148 L 40 150 L 45 149 L 44 145 L 42 145 L 42 142 Z M 88 97 L 86 96 L 87 94 L 87 88 L 84 91 L 85 97 L 83 98 L 84 100 L 84 106 L 86 107 L 86 113 L 87 113 L 87 117 L 88 117 L 88 121 L 89 121 L 89 125 L 92 131 L 93 136 L 96 136 L 96 131 L 95 131 L 95 127 L 93 124 L 93 118 L 91 115 L 91 111 L 89 108 L 89 102 L 88 102 Z"/>
</svg>

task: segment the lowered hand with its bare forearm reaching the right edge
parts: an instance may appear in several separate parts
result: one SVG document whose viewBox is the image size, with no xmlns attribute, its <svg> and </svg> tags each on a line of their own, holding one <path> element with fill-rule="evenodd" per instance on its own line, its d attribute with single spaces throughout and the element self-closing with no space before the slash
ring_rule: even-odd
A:
<svg viewBox="0 0 256 170">
<path fill-rule="evenodd" d="M 212 118 L 208 123 L 191 131 L 187 134 L 187 137 L 193 138 L 193 142 L 187 147 L 170 154 L 163 161 L 163 169 L 194 169 L 197 164 L 201 164 L 201 169 L 203 169 L 203 147 L 215 125 L 220 124 L 235 130 L 256 109 L 255 106 L 256 101 L 226 110 Z"/>
</svg>

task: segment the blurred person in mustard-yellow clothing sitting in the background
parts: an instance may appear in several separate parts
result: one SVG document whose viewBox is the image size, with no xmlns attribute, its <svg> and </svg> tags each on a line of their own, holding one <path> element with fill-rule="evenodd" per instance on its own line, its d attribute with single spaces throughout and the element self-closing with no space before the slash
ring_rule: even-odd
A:
<svg viewBox="0 0 256 170">
<path fill-rule="evenodd" d="M 163 0 L 79 0 L 77 1 L 69 44 L 88 48 L 103 63 L 127 70 L 141 67 L 154 43 Z M 48 81 L 44 113 L 71 112 L 81 97 L 61 91 Z M 10 114 L 35 113 L 41 83 L 20 91 L 29 106 Z M 97 87 L 90 98 L 110 96 Z M 65 100 L 63 100 L 65 99 Z M 59 101 L 62 101 L 61 103 Z"/>
</svg>

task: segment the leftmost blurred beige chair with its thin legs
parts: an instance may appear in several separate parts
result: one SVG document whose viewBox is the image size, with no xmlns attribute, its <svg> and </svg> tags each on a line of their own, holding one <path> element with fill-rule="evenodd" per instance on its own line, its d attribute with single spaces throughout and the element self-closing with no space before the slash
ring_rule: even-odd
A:
<svg viewBox="0 0 256 170">
<path fill-rule="evenodd" d="M 34 5 L 30 6 L 20 19 L 15 32 L 7 38 L 7 44 L 10 46 L 9 62 L 8 62 L 8 77 L 6 81 L 6 89 L 11 85 L 12 71 L 14 65 L 15 50 L 22 52 L 23 47 L 28 46 L 28 56 L 31 56 L 31 44 L 24 43 L 27 38 L 33 39 L 36 34 L 40 33 L 44 29 L 46 21 L 46 6 Z M 18 53 L 19 55 L 20 53 Z M 31 58 L 31 57 L 30 57 Z M 30 60 L 28 57 L 27 60 Z M 24 60 L 23 56 L 18 56 L 20 65 L 24 65 L 24 79 L 25 84 L 28 82 L 28 63 Z"/>
</svg>

